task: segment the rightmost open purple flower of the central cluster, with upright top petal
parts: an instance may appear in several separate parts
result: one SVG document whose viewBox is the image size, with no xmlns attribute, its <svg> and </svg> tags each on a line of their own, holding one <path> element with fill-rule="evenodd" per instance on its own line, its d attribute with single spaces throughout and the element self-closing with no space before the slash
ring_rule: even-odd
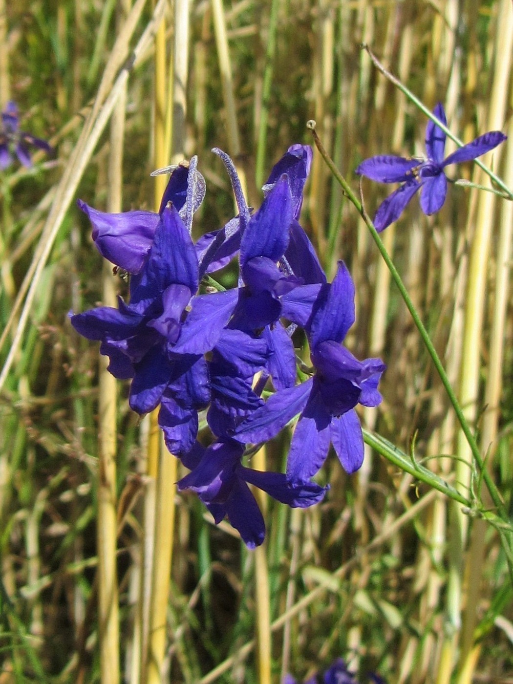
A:
<svg viewBox="0 0 513 684">
<path fill-rule="evenodd" d="M 385 365 L 378 358 L 358 361 L 341 345 L 353 323 L 354 284 L 340 262 L 332 284 L 321 287 L 305 325 L 315 375 L 269 397 L 233 434 L 243 443 L 265 442 L 300 413 L 287 460 L 291 482 L 313 477 L 330 443 L 347 473 L 362 464 L 363 436 L 354 407 L 378 406 L 378 382 Z"/>
</svg>

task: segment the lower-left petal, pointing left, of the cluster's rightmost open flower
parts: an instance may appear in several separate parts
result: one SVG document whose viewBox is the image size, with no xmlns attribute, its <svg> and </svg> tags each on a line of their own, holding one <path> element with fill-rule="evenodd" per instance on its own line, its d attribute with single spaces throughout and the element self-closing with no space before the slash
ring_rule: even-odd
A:
<svg viewBox="0 0 513 684">
<path fill-rule="evenodd" d="M 264 406 L 258 408 L 241 423 L 233 438 L 243 443 L 257 444 L 272 439 L 285 425 L 300 413 L 312 391 L 313 379 L 274 393 Z"/>
</svg>

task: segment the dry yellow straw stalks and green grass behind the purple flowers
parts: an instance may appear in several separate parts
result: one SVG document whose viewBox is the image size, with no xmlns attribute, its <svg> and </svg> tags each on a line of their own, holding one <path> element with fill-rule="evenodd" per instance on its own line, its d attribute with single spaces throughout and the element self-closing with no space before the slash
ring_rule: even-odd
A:
<svg viewBox="0 0 513 684">
<path fill-rule="evenodd" d="M 151 420 L 67 319 L 127 289 L 102 271 L 76 198 L 153 209 L 150 171 L 196 154 L 200 235 L 233 216 L 213 146 L 235 158 L 254 207 L 287 147 L 312 142 L 308 119 L 355 192 L 362 159 L 422 154 L 425 116 L 362 42 L 430 109 L 443 102 L 465 142 L 509 131 L 485 161 L 512 187 L 512 41 L 509 0 L 0 0 L 0 105 L 16 101 L 22 128 L 57 150 L 0 173 L 1 684 L 265 684 L 339 656 L 362 681 L 513 681 L 512 585 L 479 513 L 489 502 L 388 269 L 320 155 L 302 224 L 328 276 L 344 259 L 356 282 L 348 346 L 388 365 L 365 425 L 479 506 L 462 512 L 368 449 L 352 477 L 328 459 L 321 505 L 264 502 L 267 541 L 250 553 L 192 496 L 171 490 L 176 508 L 159 509 L 155 482 L 181 471 L 147 458 Z M 486 183 L 472 165 L 455 177 Z M 362 190 L 372 215 L 388 188 Z M 438 215 L 414 201 L 383 234 L 508 510 L 512 223 L 512 202 L 451 185 Z M 286 442 L 259 458 L 281 469 Z M 169 601 L 155 579 L 169 576 L 155 570 L 166 539 Z"/>
</svg>

